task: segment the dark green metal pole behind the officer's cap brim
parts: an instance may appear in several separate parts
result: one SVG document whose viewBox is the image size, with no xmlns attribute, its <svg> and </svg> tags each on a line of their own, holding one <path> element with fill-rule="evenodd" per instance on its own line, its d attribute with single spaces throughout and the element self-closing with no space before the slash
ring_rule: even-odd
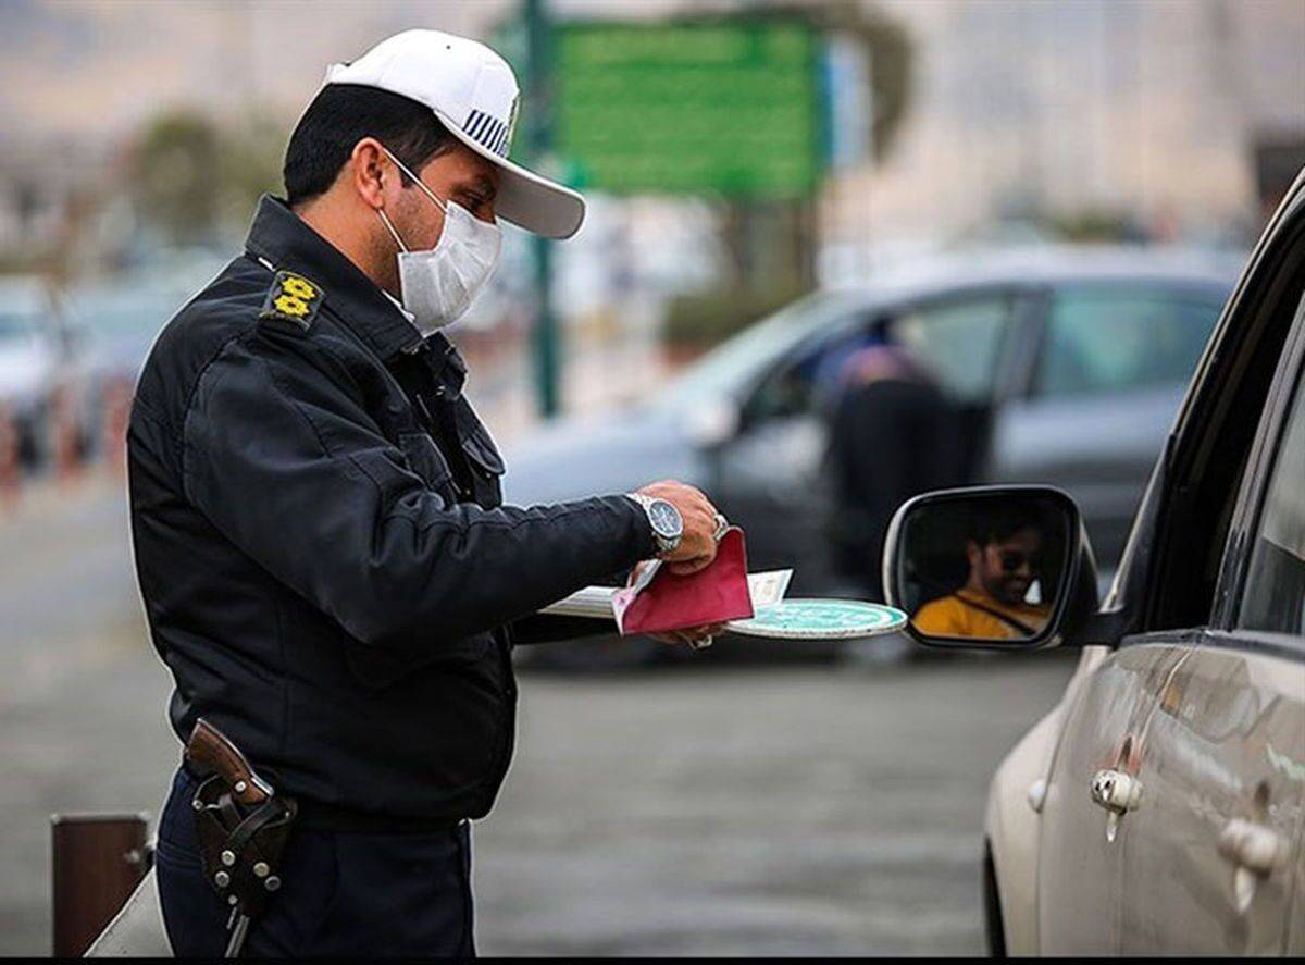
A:
<svg viewBox="0 0 1305 965">
<path fill-rule="evenodd" d="M 529 51 L 526 116 L 530 157 L 536 165 L 547 165 L 552 149 L 552 97 L 549 90 L 549 38 L 548 14 L 544 0 L 523 0 L 526 44 Z M 532 239 L 535 253 L 535 325 L 531 342 L 535 359 L 535 388 L 539 414 L 551 419 L 557 414 L 557 368 L 561 354 L 557 317 L 552 304 L 552 247 L 547 238 Z"/>
</svg>

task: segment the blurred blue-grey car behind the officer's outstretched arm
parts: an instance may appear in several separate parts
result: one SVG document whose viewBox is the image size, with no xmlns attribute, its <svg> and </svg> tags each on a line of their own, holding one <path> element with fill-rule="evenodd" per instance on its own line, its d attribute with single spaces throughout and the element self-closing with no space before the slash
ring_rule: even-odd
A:
<svg viewBox="0 0 1305 965">
<path fill-rule="evenodd" d="M 795 594 L 864 595 L 865 581 L 834 558 L 840 520 L 825 458 L 838 362 L 887 343 L 908 350 L 957 413 L 957 474 L 916 491 L 1061 486 L 1083 508 L 1104 580 L 1237 268 L 1218 252 L 1054 247 L 916 262 L 786 307 L 642 405 L 535 434 L 509 452 L 505 491 L 531 504 L 675 475 L 744 528 L 752 569 L 793 567 Z M 868 551 L 864 572 L 877 560 Z M 607 645 L 579 646 L 596 662 Z"/>
</svg>

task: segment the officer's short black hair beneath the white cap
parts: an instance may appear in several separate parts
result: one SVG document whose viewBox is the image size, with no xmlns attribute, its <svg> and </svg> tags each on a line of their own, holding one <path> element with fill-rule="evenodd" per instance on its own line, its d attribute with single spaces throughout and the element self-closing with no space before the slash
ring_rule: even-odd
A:
<svg viewBox="0 0 1305 965">
<path fill-rule="evenodd" d="M 425 104 L 378 87 L 329 84 L 308 104 L 286 148 L 290 205 L 324 195 L 364 137 L 375 137 L 416 174 L 455 144 Z M 407 175 L 399 178 L 403 187 L 410 184 Z"/>
</svg>

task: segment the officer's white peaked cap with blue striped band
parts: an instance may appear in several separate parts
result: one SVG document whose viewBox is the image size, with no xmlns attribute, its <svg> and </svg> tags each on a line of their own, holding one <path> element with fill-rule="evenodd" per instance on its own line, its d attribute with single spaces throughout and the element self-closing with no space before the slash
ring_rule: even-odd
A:
<svg viewBox="0 0 1305 965">
<path fill-rule="evenodd" d="M 440 30 L 405 30 L 348 64 L 326 69 L 326 84 L 360 84 L 425 104 L 499 170 L 495 210 L 547 238 L 570 238 L 585 221 L 585 198 L 508 161 L 521 91 L 508 61 L 483 43 Z"/>
</svg>

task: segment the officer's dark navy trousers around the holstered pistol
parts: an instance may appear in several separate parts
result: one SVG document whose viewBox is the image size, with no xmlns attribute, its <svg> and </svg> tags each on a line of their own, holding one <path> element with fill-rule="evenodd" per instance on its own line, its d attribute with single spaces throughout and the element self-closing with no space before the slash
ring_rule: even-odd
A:
<svg viewBox="0 0 1305 965">
<path fill-rule="evenodd" d="M 179 957 L 217 957 L 230 911 L 205 881 L 191 816 L 194 778 L 179 770 L 159 819 L 155 867 Z M 474 957 L 471 832 L 326 832 L 296 827 L 281 891 L 249 927 L 254 957 Z"/>
</svg>

